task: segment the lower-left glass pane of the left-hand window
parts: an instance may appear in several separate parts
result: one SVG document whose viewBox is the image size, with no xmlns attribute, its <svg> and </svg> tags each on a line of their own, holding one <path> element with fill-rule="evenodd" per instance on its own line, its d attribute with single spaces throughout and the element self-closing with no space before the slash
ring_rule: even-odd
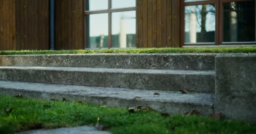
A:
<svg viewBox="0 0 256 134">
<path fill-rule="evenodd" d="M 86 48 L 108 47 L 108 14 L 85 16 Z"/>
</svg>

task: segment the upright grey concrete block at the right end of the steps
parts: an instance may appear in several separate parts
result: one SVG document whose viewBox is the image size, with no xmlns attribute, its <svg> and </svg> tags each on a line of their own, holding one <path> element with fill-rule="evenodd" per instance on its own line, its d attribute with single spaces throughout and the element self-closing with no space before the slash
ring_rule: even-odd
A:
<svg viewBox="0 0 256 134">
<path fill-rule="evenodd" d="M 256 54 L 216 57 L 214 111 L 256 122 Z"/>
</svg>

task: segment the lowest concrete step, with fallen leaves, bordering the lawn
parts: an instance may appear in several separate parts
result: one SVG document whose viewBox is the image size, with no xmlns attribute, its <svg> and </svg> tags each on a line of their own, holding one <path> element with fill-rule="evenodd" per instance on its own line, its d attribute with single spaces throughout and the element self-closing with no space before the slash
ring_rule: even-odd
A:
<svg viewBox="0 0 256 134">
<path fill-rule="evenodd" d="M 157 92 L 160 95 L 154 95 Z M 148 106 L 163 113 L 185 113 L 192 110 L 202 115 L 213 113 L 215 95 L 211 93 L 181 94 L 160 90 L 100 88 L 77 85 L 57 85 L 29 82 L 0 81 L 0 94 L 23 97 L 83 101 L 108 107 Z"/>
</svg>

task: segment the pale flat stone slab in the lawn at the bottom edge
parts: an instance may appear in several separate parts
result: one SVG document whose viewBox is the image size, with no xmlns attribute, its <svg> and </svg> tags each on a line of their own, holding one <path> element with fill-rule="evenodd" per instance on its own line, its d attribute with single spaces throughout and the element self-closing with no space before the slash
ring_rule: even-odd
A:
<svg viewBox="0 0 256 134">
<path fill-rule="evenodd" d="M 80 126 L 72 128 L 59 128 L 59 129 L 50 129 L 50 130 L 33 130 L 20 132 L 17 134 L 110 134 L 107 131 L 99 131 L 91 126 Z"/>
</svg>

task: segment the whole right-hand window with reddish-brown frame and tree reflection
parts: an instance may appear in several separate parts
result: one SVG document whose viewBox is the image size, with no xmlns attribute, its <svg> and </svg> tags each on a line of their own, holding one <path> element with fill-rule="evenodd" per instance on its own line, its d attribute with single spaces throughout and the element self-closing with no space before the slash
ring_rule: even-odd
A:
<svg viewBox="0 0 256 134">
<path fill-rule="evenodd" d="M 256 0 L 184 0 L 184 45 L 255 44 Z"/>
</svg>

